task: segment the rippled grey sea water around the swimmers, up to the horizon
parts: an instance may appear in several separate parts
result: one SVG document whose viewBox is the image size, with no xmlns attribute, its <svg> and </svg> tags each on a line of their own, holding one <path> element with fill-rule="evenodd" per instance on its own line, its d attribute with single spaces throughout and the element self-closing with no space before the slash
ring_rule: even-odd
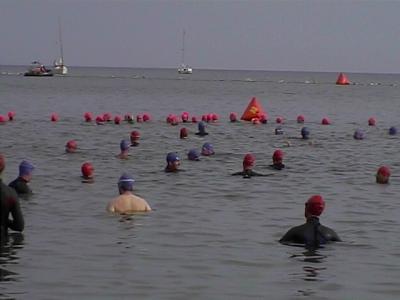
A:
<svg viewBox="0 0 400 300">
<path fill-rule="evenodd" d="M 34 194 L 21 199 L 26 228 L 1 251 L 0 299 L 399 299 L 400 298 L 400 75 L 336 73 L 70 68 L 65 77 L 23 77 L 21 67 L 0 67 L 0 113 L 16 118 L 0 126 L 6 157 L 4 182 L 21 160 L 36 169 Z M 229 123 L 255 96 L 266 125 Z M 95 116 L 150 113 L 152 121 L 97 126 Z M 217 113 L 199 138 L 196 124 L 166 124 L 170 113 L 198 118 Z M 50 122 L 51 113 L 60 116 Z M 297 139 L 304 114 L 313 143 Z M 275 135 L 283 116 L 284 134 Z M 374 116 L 377 126 L 369 127 Z M 332 124 L 321 125 L 329 117 Z M 181 127 L 189 129 L 179 139 Z M 365 140 L 354 140 L 357 128 Z M 141 144 L 118 160 L 119 143 L 141 132 Z M 65 154 L 70 139 L 76 154 Z M 188 161 L 204 142 L 216 154 Z M 268 169 L 275 149 L 283 171 Z M 167 152 L 182 169 L 164 173 Z M 244 154 L 269 177 L 243 179 Z M 95 182 L 83 184 L 90 161 Z M 375 183 L 380 165 L 388 185 Z M 122 172 L 136 179 L 135 194 L 154 211 L 131 218 L 109 215 Z M 321 222 L 342 243 L 314 253 L 278 243 L 304 222 L 304 203 L 321 194 Z"/>
</svg>

